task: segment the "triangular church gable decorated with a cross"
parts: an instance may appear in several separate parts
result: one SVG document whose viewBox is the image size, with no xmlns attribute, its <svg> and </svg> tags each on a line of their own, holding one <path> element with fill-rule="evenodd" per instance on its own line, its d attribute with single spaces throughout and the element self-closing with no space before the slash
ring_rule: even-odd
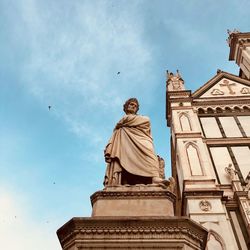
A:
<svg viewBox="0 0 250 250">
<path fill-rule="evenodd" d="M 250 97 L 250 81 L 219 72 L 193 93 L 193 98 Z"/>
</svg>

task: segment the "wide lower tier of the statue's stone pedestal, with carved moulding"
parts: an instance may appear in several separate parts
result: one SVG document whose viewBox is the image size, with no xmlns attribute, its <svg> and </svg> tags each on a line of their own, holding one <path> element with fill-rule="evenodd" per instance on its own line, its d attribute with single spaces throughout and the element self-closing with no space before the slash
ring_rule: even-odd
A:
<svg viewBox="0 0 250 250">
<path fill-rule="evenodd" d="M 205 249 L 207 231 L 185 217 L 73 218 L 57 231 L 64 250 Z"/>
</svg>

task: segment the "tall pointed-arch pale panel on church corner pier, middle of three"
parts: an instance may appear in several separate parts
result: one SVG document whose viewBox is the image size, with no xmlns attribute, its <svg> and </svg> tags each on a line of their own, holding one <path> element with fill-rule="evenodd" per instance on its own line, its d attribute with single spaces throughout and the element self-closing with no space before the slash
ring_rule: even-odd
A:
<svg viewBox="0 0 250 250">
<path fill-rule="evenodd" d="M 196 143 L 194 142 L 187 143 L 186 151 L 187 151 L 187 158 L 190 166 L 191 175 L 203 175 L 199 150 Z"/>
</svg>

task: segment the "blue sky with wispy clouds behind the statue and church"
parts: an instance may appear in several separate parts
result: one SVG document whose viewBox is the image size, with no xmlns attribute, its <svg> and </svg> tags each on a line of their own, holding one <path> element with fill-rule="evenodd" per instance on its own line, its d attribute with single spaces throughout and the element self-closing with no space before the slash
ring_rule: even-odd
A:
<svg viewBox="0 0 250 250">
<path fill-rule="evenodd" d="M 170 176 L 165 70 L 179 69 L 192 91 L 218 68 L 238 74 L 227 29 L 249 32 L 249 9 L 247 0 L 0 0 L 1 246 L 59 250 L 56 230 L 90 216 L 129 97 L 151 118 Z"/>
</svg>

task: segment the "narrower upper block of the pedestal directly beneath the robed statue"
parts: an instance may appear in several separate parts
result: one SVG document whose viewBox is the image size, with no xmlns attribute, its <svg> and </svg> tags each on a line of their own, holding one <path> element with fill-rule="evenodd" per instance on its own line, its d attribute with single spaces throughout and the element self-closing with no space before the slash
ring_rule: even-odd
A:
<svg viewBox="0 0 250 250">
<path fill-rule="evenodd" d="M 92 216 L 174 216 L 175 195 L 159 185 L 106 187 L 91 196 Z"/>
</svg>

